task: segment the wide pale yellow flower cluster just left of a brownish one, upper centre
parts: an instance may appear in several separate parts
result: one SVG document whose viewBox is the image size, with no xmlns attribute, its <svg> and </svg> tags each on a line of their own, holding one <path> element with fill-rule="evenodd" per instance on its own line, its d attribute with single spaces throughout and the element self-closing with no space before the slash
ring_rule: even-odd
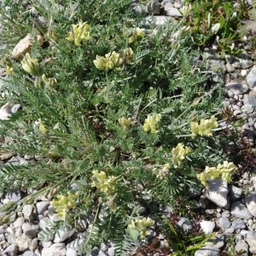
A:
<svg viewBox="0 0 256 256">
<path fill-rule="evenodd" d="M 119 67 L 122 62 L 123 60 L 119 53 L 116 53 L 115 51 L 109 52 L 105 57 L 96 55 L 96 60 L 93 61 L 96 68 L 106 72 L 108 72 L 109 69 Z"/>
</svg>

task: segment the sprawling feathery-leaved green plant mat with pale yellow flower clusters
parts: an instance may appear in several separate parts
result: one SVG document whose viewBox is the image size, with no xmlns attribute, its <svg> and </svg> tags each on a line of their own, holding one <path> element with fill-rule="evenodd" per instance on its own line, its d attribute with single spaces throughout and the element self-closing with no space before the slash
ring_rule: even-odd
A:
<svg viewBox="0 0 256 256">
<path fill-rule="evenodd" d="M 41 156 L 1 169 L 1 191 L 36 189 L 19 206 L 5 205 L 2 223 L 52 193 L 60 221 L 41 239 L 68 226 L 79 230 L 82 219 L 93 218 L 81 255 L 109 240 L 116 255 L 129 255 L 134 244 L 143 245 L 141 253 L 165 255 L 201 247 L 207 237 L 181 235 L 163 209 L 195 218 L 189 190 L 212 178 L 230 182 L 237 168 L 230 149 L 236 128 L 230 110 L 221 108 L 223 84 L 212 83 L 205 63 L 195 61 L 196 37 L 201 44 L 218 33 L 219 42 L 238 40 L 236 26 L 247 10 L 239 9 L 231 26 L 223 21 L 232 20 L 230 3 L 207 1 L 210 15 L 189 4 L 183 19 L 155 30 L 125 0 L 1 2 L 1 102 L 22 105 L 1 122 L 1 150 Z M 31 45 L 12 56 L 26 37 Z M 169 247 L 150 241 L 153 230 L 166 235 Z"/>
</svg>

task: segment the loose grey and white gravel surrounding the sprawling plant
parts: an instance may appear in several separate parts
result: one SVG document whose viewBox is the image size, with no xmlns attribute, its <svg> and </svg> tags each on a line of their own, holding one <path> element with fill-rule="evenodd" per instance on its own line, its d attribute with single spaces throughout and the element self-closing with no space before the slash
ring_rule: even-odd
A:
<svg viewBox="0 0 256 256">
<path fill-rule="evenodd" d="M 247 3 L 252 4 L 247 1 Z M 154 15 L 156 26 L 180 16 L 178 9 L 181 1 L 164 0 L 161 3 L 150 1 L 144 7 L 136 3 L 132 8 L 137 11 L 146 10 Z M 163 15 L 162 15 L 163 14 Z M 255 19 L 256 20 L 256 19 Z M 241 129 L 247 132 L 247 137 L 255 148 L 256 130 L 256 63 L 252 58 L 250 39 L 256 27 L 253 21 L 247 22 L 248 32 L 244 38 L 243 52 L 239 55 L 225 55 L 224 60 L 218 55 L 214 44 L 211 49 L 205 49 L 201 58 L 206 60 L 208 69 L 212 73 L 212 81 L 223 82 L 226 97 L 224 106 L 233 109 L 235 116 L 246 119 Z M 217 71 L 218 70 L 218 71 Z M 0 119 L 7 118 L 20 108 L 19 105 L 8 103 L 0 109 Z M 40 156 L 17 155 L 12 153 L 0 154 L 0 164 L 26 165 L 29 161 L 36 161 Z M 9 201 L 20 201 L 24 195 L 32 193 L 11 190 L 1 195 L 1 205 Z M 195 196 L 193 198 L 193 196 Z M 77 232 L 70 228 L 61 232 L 53 232 L 49 241 L 42 241 L 42 230 L 50 227 L 58 218 L 53 207 L 49 204 L 52 196 L 44 195 L 33 205 L 25 205 L 20 212 L 11 218 L 11 224 L 0 226 L 0 254 L 4 256 L 76 256 L 79 255 L 79 245 L 85 239 L 84 231 L 90 229 L 91 220 L 81 223 L 82 229 Z M 195 206 L 201 209 L 201 230 L 215 236 L 207 241 L 195 253 L 195 256 L 227 255 L 256 255 L 256 173 L 243 172 L 236 183 L 230 185 L 224 181 L 212 181 L 209 188 L 192 195 Z M 170 210 L 170 209 L 169 209 Z M 172 211 L 172 209 L 171 209 Z M 1 216 L 0 212 L 0 216 Z M 178 224 L 186 230 L 192 229 L 192 224 L 186 218 L 180 218 Z M 162 244 L 165 240 L 161 239 Z M 233 254 L 232 254 L 233 252 Z M 92 250 L 91 255 L 114 255 L 113 243 L 102 244 Z M 160 254 L 154 254 L 160 255 Z"/>
</svg>

